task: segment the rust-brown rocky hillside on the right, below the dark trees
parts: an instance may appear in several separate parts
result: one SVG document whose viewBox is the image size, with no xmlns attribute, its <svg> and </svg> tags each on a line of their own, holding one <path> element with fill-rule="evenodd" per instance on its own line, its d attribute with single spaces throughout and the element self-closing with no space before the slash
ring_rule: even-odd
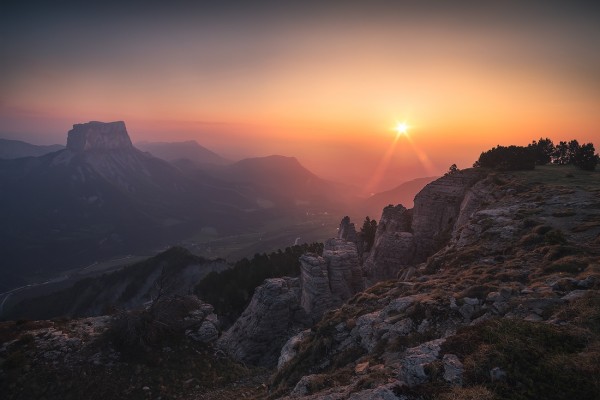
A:
<svg viewBox="0 0 600 400">
<path fill-rule="evenodd" d="M 597 396 L 600 174 L 539 167 L 447 185 L 464 178 L 424 189 L 447 206 L 415 200 L 413 233 L 442 247 L 290 340 L 274 398 Z"/>
</svg>

